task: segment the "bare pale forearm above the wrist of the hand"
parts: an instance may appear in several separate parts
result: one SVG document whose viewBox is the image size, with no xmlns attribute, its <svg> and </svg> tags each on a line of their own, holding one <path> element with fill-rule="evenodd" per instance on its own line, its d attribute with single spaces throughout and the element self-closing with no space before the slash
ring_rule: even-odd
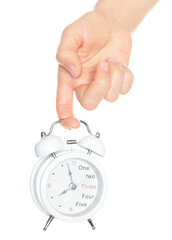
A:
<svg viewBox="0 0 172 240">
<path fill-rule="evenodd" d="M 133 32 L 159 0 L 99 0 L 95 9 L 115 17 Z"/>
</svg>

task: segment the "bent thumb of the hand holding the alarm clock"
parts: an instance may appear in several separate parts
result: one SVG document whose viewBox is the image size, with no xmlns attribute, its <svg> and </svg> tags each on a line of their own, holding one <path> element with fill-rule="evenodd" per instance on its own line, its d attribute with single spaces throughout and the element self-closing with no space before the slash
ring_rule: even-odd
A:
<svg viewBox="0 0 172 240">
<path fill-rule="evenodd" d="M 63 65 L 74 78 L 78 78 L 82 71 L 81 60 L 78 55 L 78 49 L 81 43 L 81 36 L 69 25 L 62 33 L 57 50 L 57 61 Z"/>
</svg>

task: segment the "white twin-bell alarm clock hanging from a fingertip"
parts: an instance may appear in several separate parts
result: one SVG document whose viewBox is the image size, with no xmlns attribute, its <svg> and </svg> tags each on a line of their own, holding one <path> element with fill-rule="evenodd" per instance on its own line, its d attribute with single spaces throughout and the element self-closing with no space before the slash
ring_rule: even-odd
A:
<svg viewBox="0 0 172 240">
<path fill-rule="evenodd" d="M 103 157 L 105 147 L 100 133 L 94 136 L 88 124 L 83 123 L 89 133 L 78 142 L 41 133 L 41 140 L 35 146 L 40 160 L 35 165 L 31 178 L 31 195 L 38 208 L 49 216 L 43 228 L 47 230 L 56 218 L 68 222 L 88 220 L 95 229 L 91 217 L 98 211 L 107 193 L 106 175 L 94 157 Z"/>
</svg>

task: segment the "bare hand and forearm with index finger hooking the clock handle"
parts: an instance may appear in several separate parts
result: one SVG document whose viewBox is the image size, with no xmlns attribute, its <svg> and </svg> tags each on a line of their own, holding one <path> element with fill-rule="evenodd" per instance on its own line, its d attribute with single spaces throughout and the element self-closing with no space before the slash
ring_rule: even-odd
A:
<svg viewBox="0 0 172 240">
<path fill-rule="evenodd" d="M 102 0 L 64 29 L 56 55 L 56 108 L 59 119 L 65 119 L 64 127 L 80 126 L 73 113 L 74 92 L 83 108 L 94 110 L 102 99 L 115 102 L 131 89 L 131 32 L 156 2 Z"/>
</svg>

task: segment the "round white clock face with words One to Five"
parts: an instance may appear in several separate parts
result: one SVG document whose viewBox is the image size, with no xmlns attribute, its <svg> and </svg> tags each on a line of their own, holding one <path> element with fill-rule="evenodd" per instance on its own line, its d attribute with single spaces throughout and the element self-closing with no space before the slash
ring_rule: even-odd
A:
<svg viewBox="0 0 172 240">
<path fill-rule="evenodd" d="M 99 170 L 89 161 L 70 158 L 59 162 L 46 181 L 51 207 L 65 216 L 81 216 L 93 209 L 102 195 Z"/>
</svg>

